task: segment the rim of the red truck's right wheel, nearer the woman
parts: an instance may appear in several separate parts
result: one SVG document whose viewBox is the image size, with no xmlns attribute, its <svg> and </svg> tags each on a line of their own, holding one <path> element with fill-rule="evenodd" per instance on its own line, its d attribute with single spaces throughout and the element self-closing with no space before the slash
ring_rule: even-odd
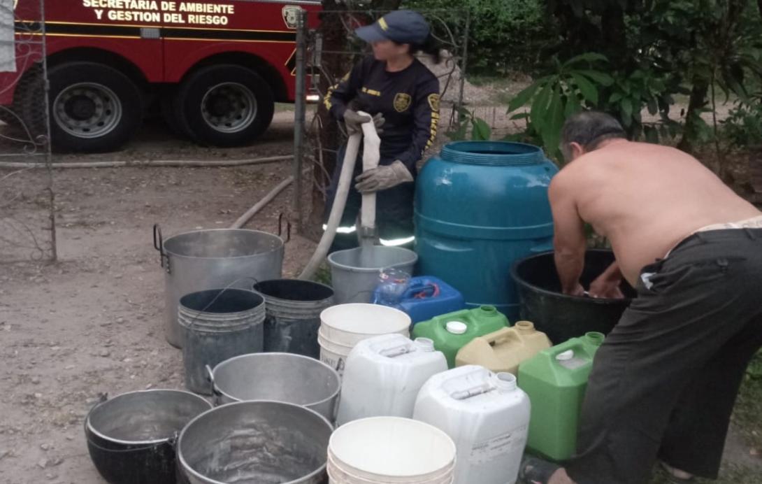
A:
<svg viewBox="0 0 762 484">
<path fill-rule="evenodd" d="M 251 89 L 237 82 L 213 86 L 203 96 L 204 122 L 219 133 L 239 133 L 257 117 L 257 98 Z"/>
</svg>

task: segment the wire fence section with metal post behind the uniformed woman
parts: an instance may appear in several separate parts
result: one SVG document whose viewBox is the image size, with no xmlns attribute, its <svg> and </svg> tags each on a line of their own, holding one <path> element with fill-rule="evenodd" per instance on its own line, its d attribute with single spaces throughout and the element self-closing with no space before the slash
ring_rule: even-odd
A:
<svg viewBox="0 0 762 484">
<path fill-rule="evenodd" d="M 387 13 L 371 10 L 341 10 L 319 12 L 325 25 L 331 22 L 340 25 L 338 32 L 326 33 L 325 28 L 311 30 L 309 25 L 317 24 L 317 19 L 302 12 L 296 47 L 296 107 L 294 121 L 294 165 L 293 176 L 296 190 L 293 191 L 293 218 L 298 219 L 299 230 L 303 232 L 303 221 L 316 220 L 321 216 L 325 204 L 325 188 L 335 166 L 338 147 L 344 143 L 346 133 L 343 126 L 331 119 L 325 111 L 322 100 L 328 88 L 335 85 L 341 76 L 349 72 L 363 56 L 370 53 L 367 46 L 354 36 L 354 29 L 369 24 Z M 458 122 L 459 107 L 463 106 L 464 83 L 466 82 L 466 60 L 470 15 L 463 11 L 453 15 L 452 11 L 421 11 L 432 26 L 434 37 L 442 47 L 442 61 L 434 65 L 426 56 L 421 61 L 440 79 L 440 127 L 437 138 L 450 131 Z M 447 14 L 447 15 L 445 15 Z M 333 18 L 331 19 L 331 16 Z M 447 20 L 446 18 L 447 17 Z M 453 18 L 459 18 L 453 21 Z M 326 38 L 334 37 L 333 39 Z M 336 47 L 335 39 L 341 39 Z M 310 104 L 307 99 L 315 104 Z M 437 149 L 439 143 L 434 143 Z M 427 158 L 427 153 L 424 159 Z M 305 175 L 305 173 L 307 175 Z M 314 227 L 314 224 L 312 224 Z"/>
</svg>

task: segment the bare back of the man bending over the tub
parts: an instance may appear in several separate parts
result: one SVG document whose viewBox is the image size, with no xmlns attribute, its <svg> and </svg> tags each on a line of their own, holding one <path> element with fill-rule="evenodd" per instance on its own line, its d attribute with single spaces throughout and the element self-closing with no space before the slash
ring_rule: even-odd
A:
<svg viewBox="0 0 762 484">
<path fill-rule="evenodd" d="M 625 139 L 575 159 L 550 191 L 554 216 L 570 213 L 573 204 L 581 220 L 610 240 L 633 285 L 643 266 L 696 230 L 762 215 L 692 156 Z"/>
</svg>

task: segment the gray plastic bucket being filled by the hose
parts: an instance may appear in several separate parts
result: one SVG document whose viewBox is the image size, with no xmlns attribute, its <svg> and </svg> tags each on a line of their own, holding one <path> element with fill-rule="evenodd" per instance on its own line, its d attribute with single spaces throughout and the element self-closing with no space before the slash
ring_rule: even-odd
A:
<svg viewBox="0 0 762 484">
<path fill-rule="evenodd" d="M 413 274 L 418 254 L 402 247 L 358 247 L 328 255 L 337 304 L 370 303 L 379 271 L 397 268 Z"/>
</svg>

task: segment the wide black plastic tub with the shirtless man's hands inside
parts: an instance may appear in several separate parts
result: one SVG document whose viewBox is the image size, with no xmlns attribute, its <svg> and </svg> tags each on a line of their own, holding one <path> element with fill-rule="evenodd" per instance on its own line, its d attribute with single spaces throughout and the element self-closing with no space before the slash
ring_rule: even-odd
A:
<svg viewBox="0 0 762 484">
<path fill-rule="evenodd" d="M 584 259 L 581 283 L 587 288 L 614 261 L 614 255 L 609 250 L 591 249 Z M 563 294 L 553 252 L 543 252 L 517 261 L 511 269 L 511 276 L 519 290 L 521 319 L 533 322 L 535 328 L 548 335 L 554 345 L 591 331 L 607 335 L 636 296 L 635 290 L 626 281 L 622 283 L 625 299 Z"/>
</svg>

